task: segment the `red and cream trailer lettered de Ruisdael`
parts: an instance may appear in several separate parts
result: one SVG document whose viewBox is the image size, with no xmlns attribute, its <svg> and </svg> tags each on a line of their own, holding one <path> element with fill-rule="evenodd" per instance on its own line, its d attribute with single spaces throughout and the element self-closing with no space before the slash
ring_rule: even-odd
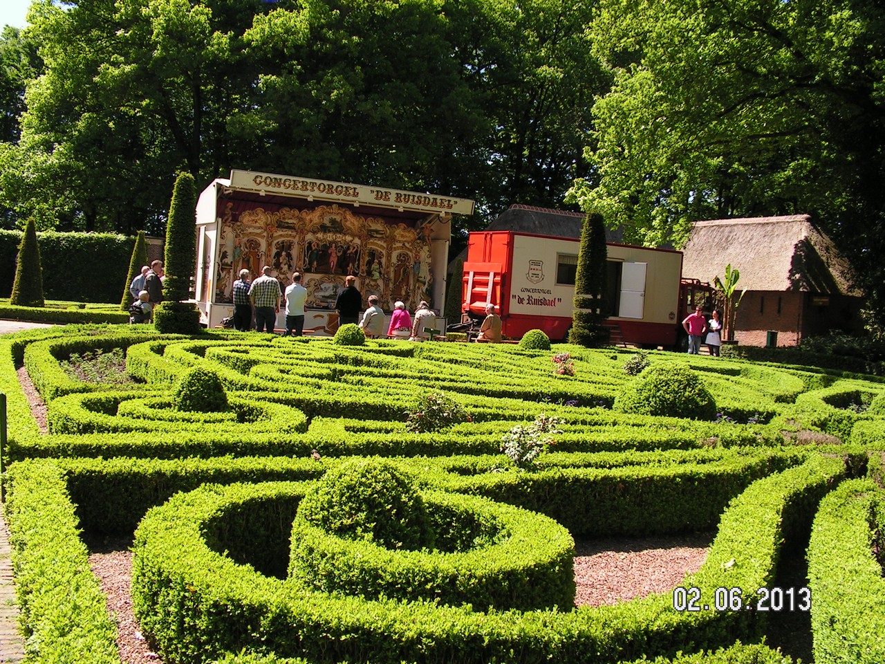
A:
<svg viewBox="0 0 885 664">
<path fill-rule="evenodd" d="M 488 304 L 501 316 L 503 333 L 519 338 L 542 329 L 566 338 L 572 325 L 574 277 L 580 241 L 514 231 L 471 233 L 462 284 L 462 311 L 481 320 Z M 681 320 L 701 302 L 708 284 L 681 279 L 682 253 L 609 243 L 607 325 L 613 343 L 675 347 Z"/>
</svg>

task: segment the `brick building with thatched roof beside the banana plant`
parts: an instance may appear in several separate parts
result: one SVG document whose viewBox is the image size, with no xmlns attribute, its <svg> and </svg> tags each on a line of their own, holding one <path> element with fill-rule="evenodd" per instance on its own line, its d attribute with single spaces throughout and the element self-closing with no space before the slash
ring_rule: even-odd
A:
<svg viewBox="0 0 885 664">
<path fill-rule="evenodd" d="M 779 345 L 831 329 L 857 331 L 861 292 L 848 261 L 807 214 L 696 221 L 683 248 L 682 276 L 713 282 L 725 266 L 747 290 L 735 319 L 741 344 Z"/>
</svg>

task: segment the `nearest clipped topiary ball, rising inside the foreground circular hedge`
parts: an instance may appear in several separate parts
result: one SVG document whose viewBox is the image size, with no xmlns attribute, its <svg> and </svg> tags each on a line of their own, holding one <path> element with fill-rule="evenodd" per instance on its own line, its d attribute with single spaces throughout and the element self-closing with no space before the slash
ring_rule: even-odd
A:
<svg viewBox="0 0 885 664">
<path fill-rule="evenodd" d="M 302 499 L 296 522 L 301 520 L 387 549 L 433 545 L 423 498 L 386 459 L 358 459 L 330 470 Z"/>
</svg>

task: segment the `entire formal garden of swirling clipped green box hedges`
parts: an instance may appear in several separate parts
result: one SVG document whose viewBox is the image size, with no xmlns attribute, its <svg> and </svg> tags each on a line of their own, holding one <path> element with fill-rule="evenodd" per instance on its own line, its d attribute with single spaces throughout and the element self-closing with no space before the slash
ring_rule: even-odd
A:
<svg viewBox="0 0 885 664">
<path fill-rule="evenodd" d="M 115 349 L 123 384 L 66 367 Z M 566 352 L 572 375 L 551 361 Z M 633 376 L 634 356 L 147 326 L 0 338 L 29 661 L 119 661 L 81 532 L 132 538 L 135 612 L 167 664 L 784 662 L 760 601 L 787 545 L 808 550 L 818 664 L 885 660 L 885 385 L 672 353 Z M 406 425 L 449 399 L 466 421 Z M 519 468 L 505 438 L 543 452 Z M 701 530 L 681 606 L 574 606 L 573 537 Z"/>
</svg>

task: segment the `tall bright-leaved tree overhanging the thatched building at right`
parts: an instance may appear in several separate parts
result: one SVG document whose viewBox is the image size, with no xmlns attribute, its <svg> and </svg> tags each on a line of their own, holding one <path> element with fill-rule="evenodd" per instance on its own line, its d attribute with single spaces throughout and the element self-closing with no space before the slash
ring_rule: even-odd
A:
<svg viewBox="0 0 885 664">
<path fill-rule="evenodd" d="M 885 6 L 854 0 L 602 0 L 585 209 L 631 241 L 697 219 L 809 213 L 885 320 Z M 594 188 L 598 182 L 598 188 Z"/>
</svg>

